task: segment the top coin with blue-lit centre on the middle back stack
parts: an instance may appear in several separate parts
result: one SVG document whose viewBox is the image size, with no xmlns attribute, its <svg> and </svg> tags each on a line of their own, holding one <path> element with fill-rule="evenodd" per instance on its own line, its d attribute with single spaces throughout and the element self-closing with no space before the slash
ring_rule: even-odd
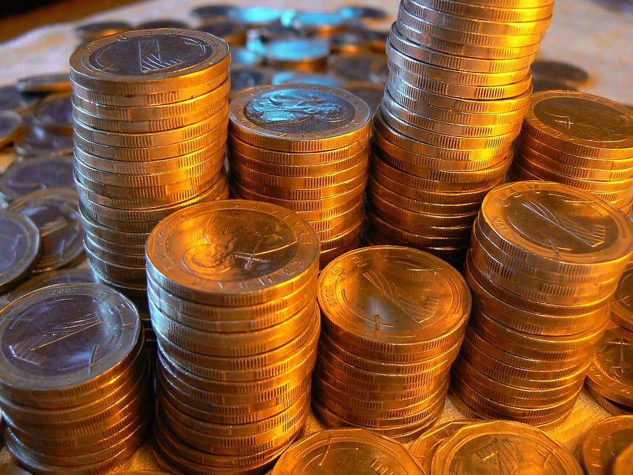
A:
<svg viewBox="0 0 633 475">
<path fill-rule="evenodd" d="M 259 86 L 232 100 L 229 132 L 262 148 L 318 152 L 365 140 L 370 118 L 366 102 L 338 88 Z"/>
</svg>

